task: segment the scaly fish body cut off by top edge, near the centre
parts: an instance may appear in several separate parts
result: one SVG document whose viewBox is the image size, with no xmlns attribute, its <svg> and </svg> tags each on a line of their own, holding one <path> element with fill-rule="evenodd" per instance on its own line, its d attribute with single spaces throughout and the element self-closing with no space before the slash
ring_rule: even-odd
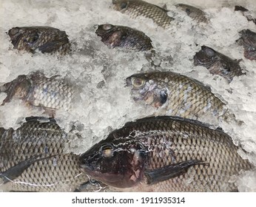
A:
<svg viewBox="0 0 256 207">
<path fill-rule="evenodd" d="M 136 18 L 138 16 L 151 18 L 155 24 L 159 27 L 163 27 L 164 29 L 168 28 L 174 20 L 174 18 L 168 16 L 168 10 L 154 4 L 149 4 L 146 1 L 112 0 L 112 4 L 114 4 L 114 10 L 125 13 L 131 18 Z"/>
</svg>

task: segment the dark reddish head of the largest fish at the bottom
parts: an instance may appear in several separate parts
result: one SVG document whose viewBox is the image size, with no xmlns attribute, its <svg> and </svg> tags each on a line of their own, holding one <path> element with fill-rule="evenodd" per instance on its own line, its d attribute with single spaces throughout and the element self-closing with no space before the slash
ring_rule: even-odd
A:
<svg viewBox="0 0 256 207">
<path fill-rule="evenodd" d="M 108 141 L 110 140 L 110 141 Z M 81 169 L 95 180 L 117 188 L 135 186 L 144 174 L 146 152 L 129 138 L 96 143 L 80 157 Z"/>
</svg>

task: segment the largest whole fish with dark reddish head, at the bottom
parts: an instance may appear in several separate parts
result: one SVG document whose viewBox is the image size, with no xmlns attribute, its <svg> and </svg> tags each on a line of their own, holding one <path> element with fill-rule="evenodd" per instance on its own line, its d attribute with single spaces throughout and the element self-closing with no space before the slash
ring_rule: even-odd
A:
<svg viewBox="0 0 256 207">
<path fill-rule="evenodd" d="M 91 177 L 120 191 L 237 191 L 252 169 L 220 129 L 175 117 L 126 123 L 80 157 Z"/>
</svg>

